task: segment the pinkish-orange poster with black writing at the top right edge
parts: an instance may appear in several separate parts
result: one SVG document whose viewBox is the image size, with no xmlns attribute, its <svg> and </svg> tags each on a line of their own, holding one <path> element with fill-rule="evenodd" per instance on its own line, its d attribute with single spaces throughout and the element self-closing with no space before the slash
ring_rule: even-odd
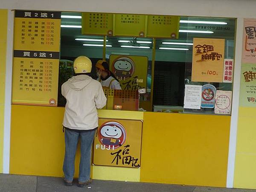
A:
<svg viewBox="0 0 256 192">
<path fill-rule="evenodd" d="M 256 19 L 244 19 L 242 63 L 256 63 Z"/>
</svg>

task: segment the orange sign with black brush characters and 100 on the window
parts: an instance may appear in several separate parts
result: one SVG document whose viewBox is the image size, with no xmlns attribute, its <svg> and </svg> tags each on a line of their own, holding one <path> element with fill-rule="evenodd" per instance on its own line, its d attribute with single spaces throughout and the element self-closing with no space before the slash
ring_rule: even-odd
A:
<svg viewBox="0 0 256 192">
<path fill-rule="evenodd" d="M 222 82 L 224 39 L 194 38 L 192 81 Z"/>
</svg>

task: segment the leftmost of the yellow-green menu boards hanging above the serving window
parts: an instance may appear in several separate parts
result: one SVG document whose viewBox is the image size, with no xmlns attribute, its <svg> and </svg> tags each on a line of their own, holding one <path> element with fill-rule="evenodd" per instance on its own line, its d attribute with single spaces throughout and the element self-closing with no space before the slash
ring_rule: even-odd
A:
<svg viewBox="0 0 256 192">
<path fill-rule="evenodd" d="M 82 35 L 113 35 L 113 14 L 82 13 Z"/>
</svg>

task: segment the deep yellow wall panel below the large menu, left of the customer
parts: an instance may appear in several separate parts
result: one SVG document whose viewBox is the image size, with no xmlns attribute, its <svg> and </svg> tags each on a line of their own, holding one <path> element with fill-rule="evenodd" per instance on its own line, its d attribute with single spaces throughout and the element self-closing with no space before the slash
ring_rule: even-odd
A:
<svg viewBox="0 0 256 192">
<path fill-rule="evenodd" d="M 63 114 L 64 108 L 12 105 L 11 174 L 63 176 Z"/>
</svg>

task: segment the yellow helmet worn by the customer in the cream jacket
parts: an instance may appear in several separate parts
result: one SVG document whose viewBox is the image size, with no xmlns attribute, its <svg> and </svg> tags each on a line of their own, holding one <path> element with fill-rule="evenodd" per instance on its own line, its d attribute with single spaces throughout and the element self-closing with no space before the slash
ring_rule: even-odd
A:
<svg viewBox="0 0 256 192">
<path fill-rule="evenodd" d="M 92 71 L 92 61 L 86 56 L 79 56 L 75 59 L 73 67 L 75 73 L 90 73 Z"/>
</svg>

